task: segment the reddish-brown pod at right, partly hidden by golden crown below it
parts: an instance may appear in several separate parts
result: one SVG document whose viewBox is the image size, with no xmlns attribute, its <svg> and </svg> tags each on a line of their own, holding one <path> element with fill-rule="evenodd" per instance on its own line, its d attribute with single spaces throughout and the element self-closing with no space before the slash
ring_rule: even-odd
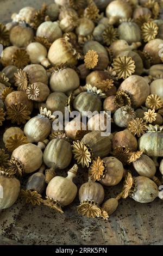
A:
<svg viewBox="0 0 163 256">
<path fill-rule="evenodd" d="M 126 147 L 131 151 L 136 151 L 137 140 L 135 136 L 127 129 L 116 132 L 114 138 L 112 139 L 112 148 L 115 149 L 117 147 Z"/>
</svg>

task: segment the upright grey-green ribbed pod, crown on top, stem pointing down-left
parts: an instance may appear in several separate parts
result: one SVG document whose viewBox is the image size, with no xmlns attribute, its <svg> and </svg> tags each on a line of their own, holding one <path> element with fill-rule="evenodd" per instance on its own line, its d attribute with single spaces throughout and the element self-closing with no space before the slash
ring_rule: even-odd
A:
<svg viewBox="0 0 163 256">
<path fill-rule="evenodd" d="M 43 153 L 43 162 L 50 168 L 46 170 L 47 183 L 55 176 L 55 169 L 67 168 L 72 159 L 71 144 L 64 133 L 54 132 L 50 138 L 52 141 L 47 144 Z"/>
</svg>

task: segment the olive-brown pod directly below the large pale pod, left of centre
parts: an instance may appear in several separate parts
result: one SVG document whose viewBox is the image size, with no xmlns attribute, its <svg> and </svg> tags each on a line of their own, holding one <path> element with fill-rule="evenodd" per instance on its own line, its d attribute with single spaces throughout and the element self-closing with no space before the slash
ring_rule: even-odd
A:
<svg viewBox="0 0 163 256">
<path fill-rule="evenodd" d="M 64 93 L 51 93 L 46 100 L 46 107 L 52 113 L 54 111 L 61 111 L 62 114 L 65 114 L 65 105 L 66 105 L 67 96 Z"/>
</svg>

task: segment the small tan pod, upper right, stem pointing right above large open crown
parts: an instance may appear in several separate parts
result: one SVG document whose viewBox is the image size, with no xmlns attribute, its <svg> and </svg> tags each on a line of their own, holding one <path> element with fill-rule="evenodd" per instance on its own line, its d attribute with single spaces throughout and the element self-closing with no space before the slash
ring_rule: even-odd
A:
<svg viewBox="0 0 163 256">
<path fill-rule="evenodd" d="M 120 39 L 112 42 L 110 48 L 114 57 L 117 57 L 121 52 L 136 50 L 139 46 L 141 46 L 141 42 L 133 42 L 129 45 L 127 41 Z"/>
</svg>

